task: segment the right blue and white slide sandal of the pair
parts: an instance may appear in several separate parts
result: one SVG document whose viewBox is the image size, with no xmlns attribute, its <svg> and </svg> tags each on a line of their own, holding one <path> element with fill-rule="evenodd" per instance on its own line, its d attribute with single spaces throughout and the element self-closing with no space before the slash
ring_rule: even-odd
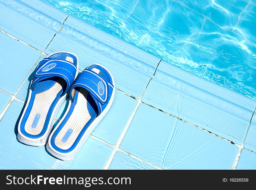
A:
<svg viewBox="0 0 256 190">
<path fill-rule="evenodd" d="M 93 64 L 83 70 L 69 90 L 65 115 L 52 131 L 47 151 L 61 160 L 70 160 L 102 120 L 115 96 L 115 84 L 109 71 Z"/>
</svg>

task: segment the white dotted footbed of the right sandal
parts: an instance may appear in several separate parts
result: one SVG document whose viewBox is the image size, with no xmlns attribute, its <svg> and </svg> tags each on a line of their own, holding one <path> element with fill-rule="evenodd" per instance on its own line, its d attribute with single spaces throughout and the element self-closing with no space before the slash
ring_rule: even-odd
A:
<svg viewBox="0 0 256 190">
<path fill-rule="evenodd" d="M 85 124 L 90 120 L 91 116 L 87 108 L 87 95 L 88 91 L 84 88 L 80 88 L 77 97 L 77 104 L 74 106 L 72 114 L 55 138 L 54 143 L 58 148 L 63 150 L 69 149 L 72 144 L 74 144 Z M 72 129 L 73 132 L 66 142 L 62 142 L 61 140 L 69 129 Z"/>
</svg>

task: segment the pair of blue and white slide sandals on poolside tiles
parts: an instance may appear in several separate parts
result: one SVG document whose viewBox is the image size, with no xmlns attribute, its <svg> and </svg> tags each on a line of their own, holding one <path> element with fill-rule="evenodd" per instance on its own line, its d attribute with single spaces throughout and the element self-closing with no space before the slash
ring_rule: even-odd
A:
<svg viewBox="0 0 256 190">
<path fill-rule="evenodd" d="M 106 68 L 93 64 L 78 75 L 76 55 L 53 53 L 35 69 L 17 138 L 32 146 L 47 144 L 56 158 L 70 160 L 109 111 L 114 95 L 113 76 Z M 67 96 L 67 110 L 52 131 Z"/>
</svg>

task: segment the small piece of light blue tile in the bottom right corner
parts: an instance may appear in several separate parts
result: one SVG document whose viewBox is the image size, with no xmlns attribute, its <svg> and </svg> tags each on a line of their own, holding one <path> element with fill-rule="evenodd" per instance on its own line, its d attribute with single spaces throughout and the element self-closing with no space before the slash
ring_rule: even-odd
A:
<svg viewBox="0 0 256 190">
<path fill-rule="evenodd" d="M 242 149 L 236 169 L 256 169 L 256 153 Z"/>
</svg>

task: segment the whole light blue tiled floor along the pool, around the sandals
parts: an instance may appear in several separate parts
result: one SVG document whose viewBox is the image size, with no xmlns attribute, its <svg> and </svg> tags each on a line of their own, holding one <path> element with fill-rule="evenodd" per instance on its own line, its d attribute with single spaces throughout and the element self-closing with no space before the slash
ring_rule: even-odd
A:
<svg viewBox="0 0 256 190">
<path fill-rule="evenodd" d="M 256 169 L 254 100 L 42 1 L 0 0 L 0 10 L 0 169 Z M 70 161 L 16 137 L 33 70 L 56 51 L 77 54 L 80 70 L 102 64 L 116 83 L 110 111 Z"/>
</svg>

